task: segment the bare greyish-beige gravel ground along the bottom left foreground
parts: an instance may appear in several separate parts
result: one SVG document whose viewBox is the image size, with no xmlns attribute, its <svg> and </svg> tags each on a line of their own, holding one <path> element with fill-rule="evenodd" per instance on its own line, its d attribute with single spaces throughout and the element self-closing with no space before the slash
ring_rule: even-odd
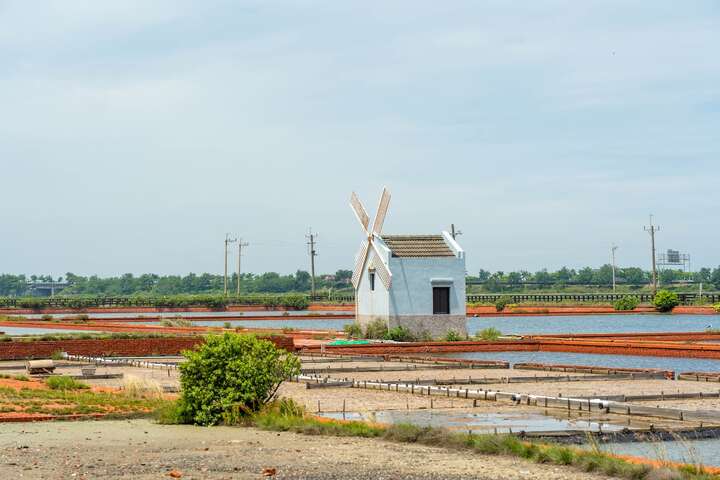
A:
<svg viewBox="0 0 720 480">
<path fill-rule="evenodd" d="M 303 436 L 252 428 L 156 425 L 147 420 L 9 424 L 0 429 L 0 478 L 160 479 L 607 478 L 381 440 Z"/>
</svg>

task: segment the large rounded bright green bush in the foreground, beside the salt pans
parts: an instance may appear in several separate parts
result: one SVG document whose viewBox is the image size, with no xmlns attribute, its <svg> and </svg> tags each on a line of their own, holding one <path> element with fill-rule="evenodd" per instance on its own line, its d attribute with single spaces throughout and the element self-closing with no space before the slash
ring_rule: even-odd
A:
<svg viewBox="0 0 720 480">
<path fill-rule="evenodd" d="M 251 335 L 209 335 L 204 344 L 183 352 L 183 423 L 233 423 L 271 401 L 280 383 L 300 372 L 300 361 L 267 340 Z"/>
</svg>

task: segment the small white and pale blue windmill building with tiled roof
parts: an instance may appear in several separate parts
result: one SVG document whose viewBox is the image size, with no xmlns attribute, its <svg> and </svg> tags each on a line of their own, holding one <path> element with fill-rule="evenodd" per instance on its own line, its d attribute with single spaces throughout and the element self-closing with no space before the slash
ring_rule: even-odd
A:
<svg viewBox="0 0 720 480">
<path fill-rule="evenodd" d="M 355 192 L 350 206 L 365 240 L 355 259 L 355 318 L 364 328 L 380 319 L 416 335 L 467 334 L 465 252 L 448 232 L 440 235 L 382 235 L 390 203 L 383 189 L 372 230 Z"/>
</svg>

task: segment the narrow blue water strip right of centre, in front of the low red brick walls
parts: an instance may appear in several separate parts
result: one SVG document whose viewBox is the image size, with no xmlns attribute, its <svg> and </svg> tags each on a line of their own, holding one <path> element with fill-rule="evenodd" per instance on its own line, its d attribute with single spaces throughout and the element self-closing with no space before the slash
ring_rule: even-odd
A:
<svg viewBox="0 0 720 480">
<path fill-rule="evenodd" d="M 571 352 L 458 352 L 433 354 L 472 360 L 505 360 L 511 364 L 538 362 L 570 365 L 595 365 L 619 368 L 659 368 L 675 372 L 718 372 L 720 360 L 704 358 L 641 357 L 636 355 L 598 355 Z"/>
</svg>

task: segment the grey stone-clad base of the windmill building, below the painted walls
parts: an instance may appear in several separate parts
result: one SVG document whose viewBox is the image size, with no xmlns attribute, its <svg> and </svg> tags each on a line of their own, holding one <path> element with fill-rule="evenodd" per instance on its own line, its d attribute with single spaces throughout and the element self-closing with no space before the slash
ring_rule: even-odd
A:
<svg viewBox="0 0 720 480">
<path fill-rule="evenodd" d="M 467 336 L 465 315 L 358 315 L 357 322 L 363 330 L 369 323 L 380 320 L 388 328 L 405 327 L 418 338 L 444 339 L 450 331 Z"/>
</svg>

